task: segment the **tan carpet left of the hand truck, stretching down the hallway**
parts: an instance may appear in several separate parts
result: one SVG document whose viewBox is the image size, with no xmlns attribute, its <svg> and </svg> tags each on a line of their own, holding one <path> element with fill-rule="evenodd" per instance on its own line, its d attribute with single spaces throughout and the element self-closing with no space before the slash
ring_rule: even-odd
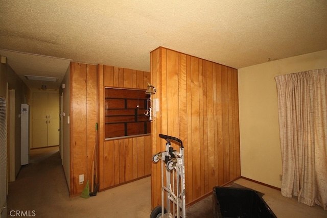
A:
<svg viewBox="0 0 327 218">
<path fill-rule="evenodd" d="M 150 187 L 147 177 L 88 199 L 69 198 L 58 147 L 34 149 L 30 164 L 8 184 L 7 217 L 19 211 L 34 217 L 149 217 Z"/>
</svg>

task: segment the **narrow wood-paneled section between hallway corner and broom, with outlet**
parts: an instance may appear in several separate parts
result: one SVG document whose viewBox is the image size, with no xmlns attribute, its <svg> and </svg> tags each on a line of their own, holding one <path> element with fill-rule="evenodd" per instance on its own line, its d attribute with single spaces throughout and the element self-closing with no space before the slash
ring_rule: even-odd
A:
<svg viewBox="0 0 327 218">
<path fill-rule="evenodd" d="M 97 105 L 97 66 L 71 62 L 71 196 L 81 193 L 91 177 Z"/>
</svg>

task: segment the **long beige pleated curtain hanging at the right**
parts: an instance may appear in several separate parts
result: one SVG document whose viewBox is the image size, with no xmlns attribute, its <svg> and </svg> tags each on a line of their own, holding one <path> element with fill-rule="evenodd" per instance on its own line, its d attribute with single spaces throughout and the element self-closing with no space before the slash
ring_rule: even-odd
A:
<svg viewBox="0 0 327 218">
<path fill-rule="evenodd" d="M 282 195 L 327 210 L 327 69 L 275 77 Z"/>
</svg>

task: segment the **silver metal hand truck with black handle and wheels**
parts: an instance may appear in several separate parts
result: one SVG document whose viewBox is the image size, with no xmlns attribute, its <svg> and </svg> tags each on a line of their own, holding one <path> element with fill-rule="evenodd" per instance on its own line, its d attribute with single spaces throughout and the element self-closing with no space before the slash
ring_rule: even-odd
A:
<svg viewBox="0 0 327 218">
<path fill-rule="evenodd" d="M 159 137 L 167 141 L 166 150 L 152 157 L 152 161 L 155 163 L 161 160 L 161 206 L 159 205 L 152 210 L 150 218 L 185 218 L 185 166 L 183 143 L 176 137 L 163 134 L 159 134 Z M 178 142 L 180 146 L 179 152 L 171 147 L 170 140 Z M 164 172 L 166 175 L 166 186 L 164 185 Z"/>
</svg>

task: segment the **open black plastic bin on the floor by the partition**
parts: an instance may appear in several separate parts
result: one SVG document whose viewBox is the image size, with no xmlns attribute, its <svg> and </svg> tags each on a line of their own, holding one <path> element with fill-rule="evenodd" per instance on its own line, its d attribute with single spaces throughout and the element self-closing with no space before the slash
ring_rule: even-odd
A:
<svg viewBox="0 0 327 218">
<path fill-rule="evenodd" d="M 214 187 L 213 212 L 222 217 L 277 217 L 258 191 L 247 188 Z"/>
</svg>

